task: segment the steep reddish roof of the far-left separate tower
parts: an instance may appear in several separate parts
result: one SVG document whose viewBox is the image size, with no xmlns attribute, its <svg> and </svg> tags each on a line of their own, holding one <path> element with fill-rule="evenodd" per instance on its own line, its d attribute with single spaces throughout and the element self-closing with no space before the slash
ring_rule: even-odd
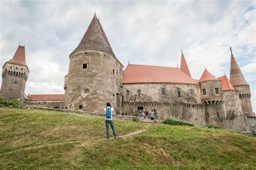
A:
<svg viewBox="0 0 256 170">
<path fill-rule="evenodd" d="M 11 60 L 7 61 L 7 63 L 12 63 L 15 65 L 20 65 L 20 66 L 26 66 L 25 47 L 19 45 L 14 56 L 12 57 Z"/>
</svg>

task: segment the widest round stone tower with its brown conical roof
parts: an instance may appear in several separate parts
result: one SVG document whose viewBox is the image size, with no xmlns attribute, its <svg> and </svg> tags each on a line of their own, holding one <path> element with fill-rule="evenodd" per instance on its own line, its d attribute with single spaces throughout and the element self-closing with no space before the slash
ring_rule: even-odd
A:
<svg viewBox="0 0 256 170">
<path fill-rule="evenodd" d="M 96 16 L 69 58 L 64 84 L 65 108 L 103 112 L 106 102 L 110 102 L 119 114 L 123 65 L 114 55 Z"/>
</svg>

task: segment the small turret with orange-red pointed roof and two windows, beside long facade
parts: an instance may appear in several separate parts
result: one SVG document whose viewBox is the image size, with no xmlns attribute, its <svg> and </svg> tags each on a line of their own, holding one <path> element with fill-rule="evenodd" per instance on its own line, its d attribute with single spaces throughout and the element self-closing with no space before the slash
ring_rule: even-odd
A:
<svg viewBox="0 0 256 170">
<path fill-rule="evenodd" d="M 199 83 L 202 102 L 205 104 L 206 124 L 221 126 L 225 118 L 221 81 L 205 69 Z"/>
</svg>

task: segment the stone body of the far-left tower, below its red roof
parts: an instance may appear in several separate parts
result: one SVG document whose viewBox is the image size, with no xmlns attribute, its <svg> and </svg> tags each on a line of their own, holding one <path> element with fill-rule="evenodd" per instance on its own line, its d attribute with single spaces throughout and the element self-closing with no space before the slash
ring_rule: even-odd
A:
<svg viewBox="0 0 256 170">
<path fill-rule="evenodd" d="M 28 76 L 27 67 L 5 63 L 2 71 L 2 96 L 8 100 L 23 101 Z"/>
</svg>

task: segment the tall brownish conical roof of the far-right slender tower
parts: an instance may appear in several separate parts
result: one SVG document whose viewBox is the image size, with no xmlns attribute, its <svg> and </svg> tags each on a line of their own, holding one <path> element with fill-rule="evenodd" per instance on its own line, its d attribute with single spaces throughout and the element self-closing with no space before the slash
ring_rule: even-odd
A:
<svg viewBox="0 0 256 170">
<path fill-rule="evenodd" d="M 248 82 L 245 80 L 245 77 L 242 74 L 242 71 L 238 66 L 238 63 L 235 60 L 232 52 L 231 52 L 231 64 L 230 64 L 230 82 L 233 86 L 249 85 Z"/>
</svg>

